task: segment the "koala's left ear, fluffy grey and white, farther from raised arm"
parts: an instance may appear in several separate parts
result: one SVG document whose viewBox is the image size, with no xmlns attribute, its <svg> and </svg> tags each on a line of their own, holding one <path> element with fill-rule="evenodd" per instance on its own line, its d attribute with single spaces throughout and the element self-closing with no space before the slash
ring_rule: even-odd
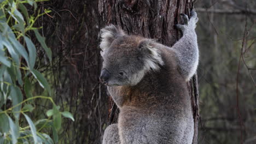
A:
<svg viewBox="0 0 256 144">
<path fill-rule="evenodd" d="M 114 25 L 109 25 L 101 29 L 101 44 L 100 48 L 102 51 L 108 49 L 112 42 L 125 35 L 125 33 Z"/>
</svg>

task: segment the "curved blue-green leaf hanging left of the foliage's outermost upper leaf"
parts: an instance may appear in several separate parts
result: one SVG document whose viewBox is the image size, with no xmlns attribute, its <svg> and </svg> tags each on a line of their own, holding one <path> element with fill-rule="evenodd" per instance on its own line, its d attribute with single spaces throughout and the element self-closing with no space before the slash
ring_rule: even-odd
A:
<svg viewBox="0 0 256 144">
<path fill-rule="evenodd" d="M 26 41 L 28 52 L 30 53 L 30 69 L 33 69 L 34 63 L 36 63 L 37 50 L 30 38 L 24 36 L 24 39 Z"/>
</svg>

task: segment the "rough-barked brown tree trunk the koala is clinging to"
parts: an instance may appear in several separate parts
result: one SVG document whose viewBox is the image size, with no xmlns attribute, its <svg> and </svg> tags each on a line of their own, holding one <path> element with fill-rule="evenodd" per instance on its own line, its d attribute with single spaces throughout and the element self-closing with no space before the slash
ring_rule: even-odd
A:
<svg viewBox="0 0 256 144">
<path fill-rule="evenodd" d="M 192 0 L 193 1 L 193 0 Z M 174 25 L 181 23 L 179 14 L 189 15 L 193 7 L 190 0 L 100 0 L 98 9 L 106 25 L 110 23 L 121 27 L 127 34 L 143 35 L 158 39 L 159 43 L 172 46 L 181 38 Z M 188 82 L 194 113 L 194 139 L 197 143 L 197 125 L 199 121 L 199 94 L 197 76 Z M 117 123 L 117 106 L 109 97 L 109 124 Z"/>
</svg>

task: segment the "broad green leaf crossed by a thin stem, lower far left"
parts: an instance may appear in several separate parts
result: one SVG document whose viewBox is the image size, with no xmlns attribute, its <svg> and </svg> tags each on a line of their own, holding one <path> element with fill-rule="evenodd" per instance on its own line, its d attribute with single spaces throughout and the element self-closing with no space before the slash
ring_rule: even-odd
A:
<svg viewBox="0 0 256 144">
<path fill-rule="evenodd" d="M 10 92 L 11 101 L 13 103 L 13 106 L 18 105 L 23 100 L 23 95 L 20 91 L 20 88 L 11 86 L 11 92 Z M 21 105 L 14 107 L 13 113 L 15 118 L 19 119 L 20 116 L 20 110 Z"/>
</svg>

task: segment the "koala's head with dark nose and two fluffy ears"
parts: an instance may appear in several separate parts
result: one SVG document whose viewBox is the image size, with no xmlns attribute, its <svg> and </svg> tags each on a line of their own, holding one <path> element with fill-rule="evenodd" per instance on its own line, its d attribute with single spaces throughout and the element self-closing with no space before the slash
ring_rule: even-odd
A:
<svg viewBox="0 0 256 144">
<path fill-rule="evenodd" d="M 107 86 L 135 86 L 146 73 L 164 64 L 153 40 L 127 35 L 114 25 L 101 29 L 101 38 L 100 80 Z"/>
</svg>

